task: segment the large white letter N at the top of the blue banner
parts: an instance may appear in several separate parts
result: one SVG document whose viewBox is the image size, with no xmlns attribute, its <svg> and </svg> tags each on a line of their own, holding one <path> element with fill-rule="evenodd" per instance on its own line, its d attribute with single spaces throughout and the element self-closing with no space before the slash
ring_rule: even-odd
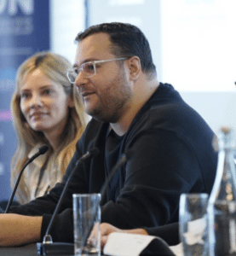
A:
<svg viewBox="0 0 236 256">
<path fill-rule="evenodd" d="M 16 15 L 17 5 L 25 15 L 32 15 L 34 0 L 9 0 L 9 15 Z"/>
</svg>

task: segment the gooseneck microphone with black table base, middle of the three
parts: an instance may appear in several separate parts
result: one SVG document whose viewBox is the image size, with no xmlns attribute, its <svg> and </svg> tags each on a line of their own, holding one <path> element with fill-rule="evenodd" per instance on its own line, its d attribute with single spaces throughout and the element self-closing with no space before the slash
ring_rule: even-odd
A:
<svg viewBox="0 0 236 256">
<path fill-rule="evenodd" d="M 92 148 L 86 154 L 77 160 L 70 176 L 66 180 L 66 184 L 60 194 L 59 201 L 55 207 L 55 211 L 50 219 L 48 229 L 46 230 L 45 236 L 43 237 L 43 242 L 37 242 L 37 255 L 66 255 L 66 254 L 73 254 L 74 253 L 74 244 L 73 243 L 66 243 L 66 242 L 55 242 L 53 243 L 52 237 L 49 235 L 51 230 L 52 224 L 54 223 L 55 215 L 58 213 L 59 208 L 61 206 L 62 200 L 64 195 L 66 194 L 67 187 L 72 179 L 74 172 L 78 169 L 78 165 L 86 160 L 89 157 L 95 157 L 99 154 L 98 148 Z"/>
</svg>

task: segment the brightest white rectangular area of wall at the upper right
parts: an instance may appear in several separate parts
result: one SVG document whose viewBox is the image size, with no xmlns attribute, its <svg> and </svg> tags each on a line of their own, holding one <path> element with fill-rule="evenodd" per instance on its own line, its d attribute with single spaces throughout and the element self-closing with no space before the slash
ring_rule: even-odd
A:
<svg viewBox="0 0 236 256">
<path fill-rule="evenodd" d="M 178 90 L 235 90 L 236 1 L 158 1 L 162 79 Z"/>
</svg>

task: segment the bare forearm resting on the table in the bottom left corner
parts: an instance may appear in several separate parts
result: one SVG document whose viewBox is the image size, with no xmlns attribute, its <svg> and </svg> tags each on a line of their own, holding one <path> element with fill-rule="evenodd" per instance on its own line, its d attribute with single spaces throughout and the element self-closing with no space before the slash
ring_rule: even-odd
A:
<svg viewBox="0 0 236 256">
<path fill-rule="evenodd" d="M 0 214 L 0 247 L 39 241 L 42 219 L 18 214 Z"/>
</svg>

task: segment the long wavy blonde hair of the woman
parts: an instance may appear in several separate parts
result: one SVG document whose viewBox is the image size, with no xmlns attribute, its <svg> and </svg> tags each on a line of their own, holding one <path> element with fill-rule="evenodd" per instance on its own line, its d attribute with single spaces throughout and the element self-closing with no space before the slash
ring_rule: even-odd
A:
<svg viewBox="0 0 236 256">
<path fill-rule="evenodd" d="M 47 153 L 49 158 L 49 170 L 52 166 L 56 167 L 59 172 L 57 172 L 57 176 L 60 175 L 60 177 L 62 177 L 64 175 L 66 167 L 75 151 L 78 138 L 81 137 L 85 128 L 85 113 L 83 111 L 82 100 L 78 96 L 76 86 L 73 86 L 73 84 L 66 78 L 67 69 L 72 69 L 70 61 L 67 61 L 66 58 L 61 55 L 51 52 L 37 53 L 24 61 L 16 73 L 15 90 L 11 100 L 14 129 L 18 137 L 18 147 L 11 162 L 12 187 L 19 175 L 20 169 L 26 164 L 28 154 L 32 148 L 34 148 L 37 143 L 49 144 L 49 141 L 44 137 L 43 132 L 32 130 L 20 110 L 20 86 L 22 80 L 26 75 L 32 73 L 36 69 L 40 69 L 40 71 L 49 77 L 49 79 L 61 84 L 66 95 L 72 96 L 74 102 L 74 107 L 69 108 L 67 123 L 60 137 L 60 147 L 56 148 L 55 151 L 53 151 L 52 147 L 49 147 Z M 56 181 L 57 177 L 51 178 Z M 29 195 L 27 195 L 27 186 L 30 186 L 30 184 L 26 183 L 26 178 L 23 173 L 17 190 L 17 197 L 20 203 L 25 203 L 29 198 Z"/>
</svg>

